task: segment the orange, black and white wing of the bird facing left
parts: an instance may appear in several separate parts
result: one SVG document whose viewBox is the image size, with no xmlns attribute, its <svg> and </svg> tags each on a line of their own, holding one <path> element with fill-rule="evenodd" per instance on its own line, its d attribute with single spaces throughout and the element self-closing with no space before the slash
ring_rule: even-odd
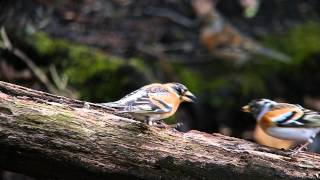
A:
<svg viewBox="0 0 320 180">
<path fill-rule="evenodd" d="M 320 127 L 319 112 L 300 105 L 279 103 L 265 115 L 279 127 Z"/>
</svg>

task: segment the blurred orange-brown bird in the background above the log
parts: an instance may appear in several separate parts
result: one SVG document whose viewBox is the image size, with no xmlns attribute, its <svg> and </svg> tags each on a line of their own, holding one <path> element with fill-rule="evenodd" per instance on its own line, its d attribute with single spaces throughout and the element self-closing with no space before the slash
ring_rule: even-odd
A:
<svg viewBox="0 0 320 180">
<path fill-rule="evenodd" d="M 237 64 L 251 59 L 254 55 L 262 55 L 282 62 L 290 60 L 289 56 L 266 48 L 240 33 L 223 19 L 214 5 L 214 0 L 193 0 L 193 8 L 202 21 L 200 42 L 214 56 L 235 60 Z"/>
</svg>

